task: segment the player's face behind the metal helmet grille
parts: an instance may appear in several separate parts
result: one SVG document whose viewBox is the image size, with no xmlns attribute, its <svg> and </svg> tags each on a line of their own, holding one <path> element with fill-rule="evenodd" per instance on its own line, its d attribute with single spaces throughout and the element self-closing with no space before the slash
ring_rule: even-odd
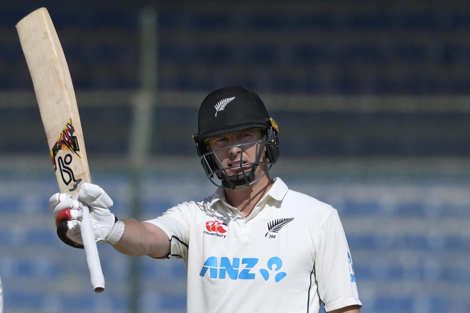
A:
<svg viewBox="0 0 470 313">
<path fill-rule="evenodd" d="M 260 142 L 261 139 L 261 130 L 247 129 L 211 137 L 207 144 L 210 151 L 215 151 L 222 167 L 227 170 L 228 176 L 234 176 L 252 169 L 253 164 L 247 163 L 256 161 L 258 151 L 254 142 Z M 259 147 L 260 145 L 258 149 Z M 264 157 L 263 153 L 261 160 L 264 160 Z M 218 166 L 220 167 L 220 164 Z"/>
</svg>

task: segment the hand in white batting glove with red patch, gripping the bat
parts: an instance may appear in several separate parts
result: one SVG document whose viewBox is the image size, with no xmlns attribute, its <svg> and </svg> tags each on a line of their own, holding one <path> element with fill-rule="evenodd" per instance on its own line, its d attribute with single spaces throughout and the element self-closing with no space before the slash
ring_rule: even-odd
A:
<svg viewBox="0 0 470 313">
<path fill-rule="evenodd" d="M 90 209 L 96 242 L 116 244 L 122 236 L 124 224 L 109 210 L 113 200 L 101 187 L 87 182 L 80 187 L 78 200 L 63 193 L 50 197 L 49 207 L 54 215 L 59 238 L 69 246 L 83 248 L 80 234 L 83 205 Z"/>
</svg>

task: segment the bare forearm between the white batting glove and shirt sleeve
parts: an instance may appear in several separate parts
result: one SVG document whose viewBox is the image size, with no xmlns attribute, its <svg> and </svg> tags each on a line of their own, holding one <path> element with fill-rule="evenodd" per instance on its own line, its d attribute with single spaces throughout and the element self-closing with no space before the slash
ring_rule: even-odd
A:
<svg viewBox="0 0 470 313">
<path fill-rule="evenodd" d="M 168 237 L 159 227 L 141 223 L 134 219 L 123 220 L 124 233 L 113 246 L 116 250 L 127 255 L 148 255 L 162 258 L 170 253 Z"/>
</svg>

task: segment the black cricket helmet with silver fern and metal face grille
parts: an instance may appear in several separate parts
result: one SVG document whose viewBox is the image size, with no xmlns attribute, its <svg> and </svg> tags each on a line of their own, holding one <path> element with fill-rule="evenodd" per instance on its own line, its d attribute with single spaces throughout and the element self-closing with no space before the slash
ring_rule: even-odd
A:
<svg viewBox="0 0 470 313">
<path fill-rule="evenodd" d="M 246 129 L 260 129 L 262 131 L 261 141 L 236 145 L 241 149 L 240 164 L 224 168 L 221 160 L 215 154 L 219 150 L 209 151 L 207 139 Z M 192 137 L 208 179 L 216 186 L 234 190 L 254 184 L 266 175 L 276 163 L 279 156 L 278 132 L 278 126 L 269 117 L 261 98 L 251 90 L 234 86 L 215 90 L 202 101 L 198 115 L 198 133 L 193 134 Z M 256 160 L 245 162 L 243 149 L 253 145 L 256 145 L 257 149 Z M 263 152 L 266 153 L 265 160 L 262 160 Z M 242 164 L 243 166 L 252 165 L 251 169 L 245 171 Z M 259 164 L 266 164 L 266 171 L 256 178 L 255 170 Z M 240 167 L 242 173 L 229 176 L 227 169 L 234 167 Z M 218 179 L 220 182 L 214 179 Z"/>
</svg>

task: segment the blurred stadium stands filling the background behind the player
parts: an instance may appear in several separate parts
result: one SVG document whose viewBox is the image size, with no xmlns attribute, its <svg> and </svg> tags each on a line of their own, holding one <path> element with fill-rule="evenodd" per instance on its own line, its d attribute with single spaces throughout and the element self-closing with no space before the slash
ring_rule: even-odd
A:
<svg viewBox="0 0 470 313">
<path fill-rule="evenodd" d="M 39 6 L 70 67 L 92 179 L 119 218 L 212 194 L 197 109 L 244 86 L 280 127 L 272 176 L 338 209 L 361 312 L 469 312 L 468 1 L 37 3 L 0 10 L 5 313 L 186 312 L 183 261 L 99 244 L 95 294 L 83 251 L 55 234 L 57 185 L 15 30 Z"/>
</svg>

